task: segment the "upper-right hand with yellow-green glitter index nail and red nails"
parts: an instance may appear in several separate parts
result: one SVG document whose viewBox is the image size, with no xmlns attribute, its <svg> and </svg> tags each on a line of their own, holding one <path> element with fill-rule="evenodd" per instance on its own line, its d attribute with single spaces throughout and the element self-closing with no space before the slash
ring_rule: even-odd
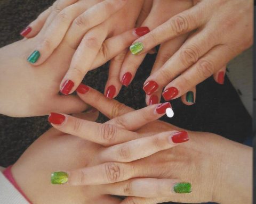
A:
<svg viewBox="0 0 256 204">
<path fill-rule="evenodd" d="M 135 40 L 141 49 L 133 54 L 140 57 L 158 44 L 196 30 L 150 75 L 143 89 L 152 95 L 165 87 L 163 97 L 171 100 L 186 94 L 213 73 L 218 74 L 215 80 L 223 83 L 225 65 L 252 45 L 252 11 L 250 0 L 202 0 Z M 133 44 L 131 48 L 134 47 Z"/>
</svg>

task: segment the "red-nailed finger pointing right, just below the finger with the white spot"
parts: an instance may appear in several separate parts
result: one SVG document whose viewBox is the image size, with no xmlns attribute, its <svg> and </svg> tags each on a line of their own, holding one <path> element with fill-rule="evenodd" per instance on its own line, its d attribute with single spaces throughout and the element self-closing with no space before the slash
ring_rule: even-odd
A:
<svg viewBox="0 0 256 204">
<path fill-rule="evenodd" d="M 163 132 L 105 148 L 100 151 L 98 157 L 102 163 L 132 162 L 153 155 L 158 151 L 170 149 L 188 140 L 188 133 L 185 131 Z"/>
</svg>

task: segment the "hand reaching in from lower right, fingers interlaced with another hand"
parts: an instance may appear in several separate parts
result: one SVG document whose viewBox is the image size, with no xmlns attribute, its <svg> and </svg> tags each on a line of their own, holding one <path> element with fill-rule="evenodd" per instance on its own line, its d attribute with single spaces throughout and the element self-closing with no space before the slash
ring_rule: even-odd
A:
<svg viewBox="0 0 256 204">
<path fill-rule="evenodd" d="M 133 140 L 138 137 L 150 138 L 151 135 L 166 131 L 181 131 L 179 128 L 161 121 L 154 121 L 139 128 L 138 121 L 140 121 L 140 118 L 150 118 L 149 122 L 153 119 L 152 114 L 150 117 L 146 114 L 138 114 L 138 116 L 132 117 L 133 120 L 127 116 L 132 116 L 136 112 L 142 113 L 142 111 L 149 110 L 154 106 L 132 112 L 131 108 L 115 100 L 106 99 L 98 91 L 88 87 L 85 89 L 84 85 L 82 87 L 86 91 L 79 90 L 79 96 L 87 104 L 93 105 L 109 118 L 114 118 L 108 122 L 111 126 L 102 128 L 104 127 L 102 125 L 93 125 L 92 123 L 66 116 L 65 119 L 62 117 L 60 125 L 54 125 L 58 130 L 105 146 Z M 135 121 L 134 118 L 136 118 Z M 137 125 L 133 126 L 133 129 L 130 126 L 131 122 Z M 139 122 L 139 124 L 143 123 Z M 117 125 L 117 127 L 113 125 Z M 131 133 L 124 132 L 124 130 L 122 132 L 119 129 L 124 127 L 131 131 L 136 130 L 135 132 L 133 131 L 133 135 L 137 136 L 131 137 Z M 91 132 L 92 129 L 94 129 L 93 132 Z M 99 130 L 101 130 L 100 133 Z M 147 155 L 148 157 L 139 160 L 134 159 L 139 158 L 136 148 L 140 142 L 134 142 L 133 140 L 130 142 L 131 146 L 127 145 L 126 148 L 123 146 L 122 151 L 116 148 L 118 145 L 111 146 L 108 151 L 104 151 L 101 154 L 101 165 L 95 164 L 95 166 L 79 168 L 77 171 L 69 171 L 67 184 L 113 183 L 106 184 L 108 185 L 108 194 L 115 192 L 120 196 L 130 196 L 122 204 L 167 201 L 189 203 L 213 201 L 224 204 L 234 202 L 250 203 L 252 199 L 252 149 L 212 133 L 189 131 L 188 134 L 190 137 L 189 142 L 157 152 L 151 156 Z M 106 137 L 106 135 L 108 136 Z M 138 139 L 138 141 L 142 140 Z M 154 140 L 154 143 L 158 148 L 165 148 L 162 140 Z M 126 144 L 129 144 L 129 142 Z M 151 150 L 152 148 L 145 149 L 143 142 L 141 144 L 140 150 L 143 149 L 145 155 L 154 151 Z M 96 156 L 95 159 L 97 160 L 97 158 Z M 105 164 L 105 167 L 113 167 L 107 168 L 113 169 L 113 172 L 110 171 L 110 174 L 108 174 L 102 163 L 110 161 L 115 163 Z M 125 164 L 120 162 L 125 162 Z M 110 164 L 113 166 L 108 166 Z M 65 168 L 63 169 L 65 170 Z M 99 173 L 94 174 L 95 172 Z M 110 179 L 108 179 L 107 175 L 110 175 Z M 138 177 L 156 179 L 133 179 Z M 175 194 L 170 190 L 173 189 L 173 183 L 161 180 L 174 178 L 191 183 L 193 186 L 192 192 L 183 195 Z M 183 188 L 183 190 L 189 189 L 189 185 L 185 187 L 187 188 Z M 155 189 L 160 190 L 156 191 Z M 227 194 L 229 197 L 227 197 Z"/>
</svg>

